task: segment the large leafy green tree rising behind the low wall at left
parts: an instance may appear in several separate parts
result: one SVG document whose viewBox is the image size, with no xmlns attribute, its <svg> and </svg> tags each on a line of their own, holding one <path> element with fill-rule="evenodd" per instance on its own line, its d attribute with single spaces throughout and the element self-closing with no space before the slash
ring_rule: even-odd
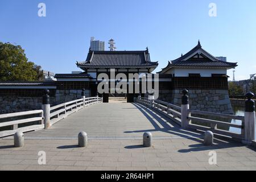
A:
<svg viewBox="0 0 256 182">
<path fill-rule="evenodd" d="M 0 42 L 0 81 L 38 81 L 40 67 L 28 61 L 24 49 Z"/>
</svg>

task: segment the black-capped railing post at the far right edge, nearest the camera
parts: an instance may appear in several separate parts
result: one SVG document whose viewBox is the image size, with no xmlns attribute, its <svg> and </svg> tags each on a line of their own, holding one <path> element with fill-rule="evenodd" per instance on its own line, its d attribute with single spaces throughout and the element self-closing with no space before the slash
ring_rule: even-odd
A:
<svg viewBox="0 0 256 182">
<path fill-rule="evenodd" d="M 250 145 L 255 140 L 255 103 L 252 100 L 254 93 L 248 92 L 245 96 L 245 139 L 242 143 Z"/>
</svg>

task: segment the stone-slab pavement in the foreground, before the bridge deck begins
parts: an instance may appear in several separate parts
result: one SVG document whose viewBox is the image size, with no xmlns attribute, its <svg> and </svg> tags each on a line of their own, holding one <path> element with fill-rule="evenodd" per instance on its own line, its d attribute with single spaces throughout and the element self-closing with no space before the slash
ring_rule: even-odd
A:
<svg viewBox="0 0 256 182">
<path fill-rule="evenodd" d="M 239 143 L 205 147 L 200 140 L 157 139 L 143 148 L 141 140 L 26 140 L 13 148 L 13 140 L 0 141 L 0 170 L 256 170 L 256 152 Z M 38 152 L 46 151 L 46 165 L 38 165 Z M 217 165 L 208 163 L 217 152 Z"/>
</svg>

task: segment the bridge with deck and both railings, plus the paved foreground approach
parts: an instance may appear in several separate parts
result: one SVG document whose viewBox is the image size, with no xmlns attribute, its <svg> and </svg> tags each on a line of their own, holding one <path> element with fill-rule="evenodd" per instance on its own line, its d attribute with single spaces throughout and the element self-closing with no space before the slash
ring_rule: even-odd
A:
<svg viewBox="0 0 256 182">
<path fill-rule="evenodd" d="M 248 134 L 254 132 L 247 129 L 250 119 L 246 117 L 189 110 L 187 104 L 176 106 L 147 98 L 134 103 L 81 98 L 43 108 L 0 115 L 6 119 L 0 129 L 7 127 L 0 131 L 0 170 L 256 169 L 255 142 Z M 238 119 L 241 125 L 204 115 Z M 229 127 L 241 129 L 241 133 L 224 130 Z M 212 146 L 203 144 L 207 130 L 214 133 Z M 25 146 L 20 148 L 13 146 L 11 136 L 17 131 L 24 133 Z M 80 131 L 88 134 L 88 147 L 77 146 Z M 152 133 L 152 147 L 142 146 L 144 132 Z M 46 164 L 38 162 L 40 151 L 46 152 Z M 216 164 L 209 163 L 210 151 L 217 154 Z"/>
</svg>

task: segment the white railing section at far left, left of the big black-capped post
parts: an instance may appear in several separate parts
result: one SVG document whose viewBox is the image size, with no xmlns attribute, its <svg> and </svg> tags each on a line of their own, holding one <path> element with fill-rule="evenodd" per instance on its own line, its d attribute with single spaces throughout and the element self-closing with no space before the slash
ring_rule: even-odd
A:
<svg viewBox="0 0 256 182">
<path fill-rule="evenodd" d="M 1 114 L 0 138 L 14 135 L 17 131 L 27 132 L 44 128 L 43 110 Z"/>
</svg>

